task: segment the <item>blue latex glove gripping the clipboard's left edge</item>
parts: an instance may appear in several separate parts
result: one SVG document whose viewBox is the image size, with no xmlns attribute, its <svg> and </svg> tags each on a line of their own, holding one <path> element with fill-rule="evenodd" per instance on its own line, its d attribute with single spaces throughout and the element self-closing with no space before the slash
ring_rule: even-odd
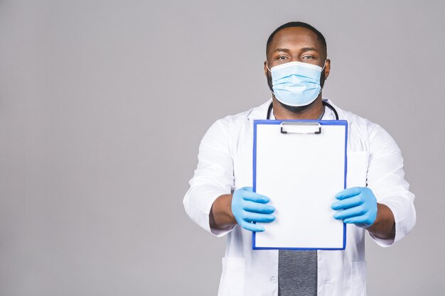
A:
<svg viewBox="0 0 445 296">
<path fill-rule="evenodd" d="M 250 231 L 264 231 L 263 226 L 251 222 L 272 222 L 275 208 L 267 204 L 269 197 L 253 192 L 252 187 L 243 187 L 233 192 L 232 213 L 238 224 Z"/>
</svg>

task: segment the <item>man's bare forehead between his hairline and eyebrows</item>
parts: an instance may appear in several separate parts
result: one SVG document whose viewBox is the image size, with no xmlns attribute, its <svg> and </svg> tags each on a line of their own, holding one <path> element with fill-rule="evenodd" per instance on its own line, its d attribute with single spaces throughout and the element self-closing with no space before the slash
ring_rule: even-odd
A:
<svg viewBox="0 0 445 296">
<path fill-rule="evenodd" d="M 324 51 L 323 45 L 320 40 L 318 40 L 316 33 L 313 33 L 313 31 L 308 28 L 284 28 L 275 33 L 269 46 L 269 53 L 273 53 L 277 48 L 288 48 L 292 50 L 307 47 L 316 48 L 319 52 Z"/>
</svg>

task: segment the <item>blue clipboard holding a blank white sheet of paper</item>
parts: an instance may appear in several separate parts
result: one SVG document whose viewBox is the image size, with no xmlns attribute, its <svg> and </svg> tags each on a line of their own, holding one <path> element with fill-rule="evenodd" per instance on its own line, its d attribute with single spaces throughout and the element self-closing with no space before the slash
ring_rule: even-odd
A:
<svg viewBox="0 0 445 296">
<path fill-rule="evenodd" d="M 348 121 L 255 120 L 253 190 L 270 198 L 275 221 L 252 248 L 344 250 L 346 224 L 333 218 L 345 189 Z"/>
</svg>

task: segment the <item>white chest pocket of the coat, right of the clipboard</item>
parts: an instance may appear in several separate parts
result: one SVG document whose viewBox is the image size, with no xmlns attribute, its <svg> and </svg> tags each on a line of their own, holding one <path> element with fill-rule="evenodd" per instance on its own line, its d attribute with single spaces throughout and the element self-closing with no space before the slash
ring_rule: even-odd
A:
<svg viewBox="0 0 445 296">
<path fill-rule="evenodd" d="M 368 174 L 368 151 L 348 152 L 348 171 L 346 172 L 346 187 L 366 187 Z"/>
</svg>

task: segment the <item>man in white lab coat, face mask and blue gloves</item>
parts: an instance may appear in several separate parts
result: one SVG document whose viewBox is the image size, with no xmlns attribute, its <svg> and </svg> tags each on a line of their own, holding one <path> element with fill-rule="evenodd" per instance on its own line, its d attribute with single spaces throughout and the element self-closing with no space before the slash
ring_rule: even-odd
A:
<svg viewBox="0 0 445 296">
<path fill-rule="evenodd" d="M 416 221 L 400 149 L 377 124 L 322 99 L 331 61 L 316 28 L 280 26 L 267 40 L 266 55 L 272 100 L 209 128 L 183 200 L 193 221 L 215 236 L 227 234 L 218 295 L 365 295 L 365 232 L 391 246 Z M 347 189 L 331 205 L 334 218 L 347 225 L 344 251 L 252 250 L 252 231 L 267 231 L 252 222 L 275 219 L 274 197 L 252 192 L 254 119 L 348 121 Z"/>
</svg>

